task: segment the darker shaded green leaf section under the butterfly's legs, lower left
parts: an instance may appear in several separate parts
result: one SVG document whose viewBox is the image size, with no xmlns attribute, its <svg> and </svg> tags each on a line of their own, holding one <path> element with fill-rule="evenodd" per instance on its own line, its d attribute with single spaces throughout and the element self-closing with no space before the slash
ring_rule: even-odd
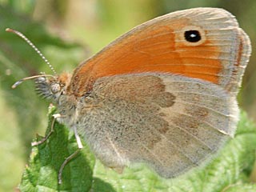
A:
<svg viewBox="0 0 256 192">
<path fill-rule="evenodd" d="M 50 131 L 52 114 L 46 134 Z M 42 137 L 38 137 L 40 141 Z M 78 150 L 74 134 L 65 126 L 54 122 L 54 132 L 50 138 L 38 146 L 33 146 L 30 154 L 30 166 L 22 175 L 19 186 L 21 191 L 88 191 L 93 180 L 94 156 L 85 147 L 66 164 L 62 173 L 62 184 L 58 184 L 58 171 L 65 158 Z"/>
</svg>

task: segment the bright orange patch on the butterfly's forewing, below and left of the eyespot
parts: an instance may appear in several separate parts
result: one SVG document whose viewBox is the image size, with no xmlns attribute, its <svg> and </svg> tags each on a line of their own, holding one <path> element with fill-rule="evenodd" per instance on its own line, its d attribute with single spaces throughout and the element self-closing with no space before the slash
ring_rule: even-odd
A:
<svg viewBox="0 0 256 192">
<path fill-rule="evenodd" d="M 174 29 L 183 26 L 185 20 L 172 25 Z M 222 69 L 218 47 L 206 46 L 209 41 L 186 46 L 182 41 L 176 42 L 176 36 L 170 26 L 154 25 L 126 34 L 74 71 L 72 92 L 84 94 L 97 78 L 144 72 L 182 74 L 218 83 Z"/>
</svg>

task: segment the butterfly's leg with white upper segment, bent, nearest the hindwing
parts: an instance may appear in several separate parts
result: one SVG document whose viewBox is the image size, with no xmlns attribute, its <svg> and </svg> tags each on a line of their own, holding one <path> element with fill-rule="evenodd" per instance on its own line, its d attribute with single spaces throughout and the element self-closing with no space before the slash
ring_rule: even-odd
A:
<svg viewBox="0 0 256 192">
<path fill-rule="evenodd" d="M 77 143 L 78 143 L 78 150 L 76 150 L 73 154 L 70 154 L 70 156 L 67 157 L 65 159 L 65 161 L 62 163 L 61 168 L 58 170 L 58 184 L 62 184 L 62 172 L 63 172 L 66 164 L 69 163 L 70 160 L 73 159 L 80 152 L 80 150 L 83 148 L 81 138 L 79 137 L 78 130 L 75 126 L 73 127 L 73 130 L 74 130 L 74 136 L 75 136 L 75 138 L 77 140 Z"/>
</svg>

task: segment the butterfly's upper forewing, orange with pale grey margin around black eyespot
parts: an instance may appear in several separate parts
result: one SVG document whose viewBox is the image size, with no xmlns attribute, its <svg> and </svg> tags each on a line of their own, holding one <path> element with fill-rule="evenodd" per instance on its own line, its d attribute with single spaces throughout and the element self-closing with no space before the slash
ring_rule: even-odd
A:
<svg viewBox="0 0 256 192">
<path fill-rule="evenodd" d="M 199 42 L 186 41 L 185 32 L 190 30 L 199 31 Z M 248 60 L 250 44 L 245 38 L 226 10 L 198 8 L 166 14 L 135 27 L 83 62 L 74 71 L 70 90 L 81 95 L 97 78 L 142 72 L 182 74 L 226 87 L 233 70 L 243 73 L 242 68 L 234 69 L 234 63 L 244 66 Z"/>
</svg>

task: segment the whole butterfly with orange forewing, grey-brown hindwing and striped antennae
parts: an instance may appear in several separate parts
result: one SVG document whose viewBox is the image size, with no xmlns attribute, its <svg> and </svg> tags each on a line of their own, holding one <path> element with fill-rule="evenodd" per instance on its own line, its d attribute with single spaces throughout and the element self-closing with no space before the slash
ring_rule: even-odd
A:
<svg viewBox="0 0 256 192">
<path fill-rule="evenodd" d="M 73 74 L 30 78 L 58 107 L 57 121 L 74 130 L 78 148 L 83 138 L 114 170 L 142 162 L 173 178 L 234 135 L 250 52 L 232 14 L 195 8 L 136 26 Z"/>
</svg>

